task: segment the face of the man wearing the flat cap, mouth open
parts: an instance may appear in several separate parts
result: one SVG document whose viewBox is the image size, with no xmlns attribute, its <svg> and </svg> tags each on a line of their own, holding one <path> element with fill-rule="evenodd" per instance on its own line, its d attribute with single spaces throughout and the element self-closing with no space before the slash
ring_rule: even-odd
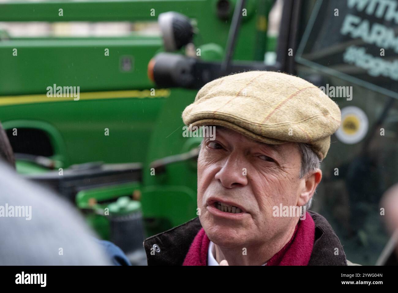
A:
<svg viewBox="0 0 398 293">
<path fill-rule="evenodd" d="M 215 140 L 203 139 L 198 158 L 197 205 L 207 236 L 221 247 L 245 247 L 295 226 L 297 217 L 274 217 L 273 207 L 306 203 L 299 196 L 305 187 L 300 164 L 295 143 L 263 144 L 216 126 Z M 224 204 L 242 212 L 217 208 Z"/>
</svg>

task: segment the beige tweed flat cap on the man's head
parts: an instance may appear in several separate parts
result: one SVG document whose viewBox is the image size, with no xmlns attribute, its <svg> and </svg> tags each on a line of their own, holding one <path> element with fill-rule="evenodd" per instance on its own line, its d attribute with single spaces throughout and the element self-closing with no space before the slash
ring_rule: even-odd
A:
<svg viewBox="0 0 398 293">
<path fill-rule="evenodd" d="M 323 160 L 341 114 L 332 99 L 304 79 L 249 71 L 204 85 L 182 119 L 187 126 L 224 126 L 266 144 L 303 142 Z"/>
</svg>

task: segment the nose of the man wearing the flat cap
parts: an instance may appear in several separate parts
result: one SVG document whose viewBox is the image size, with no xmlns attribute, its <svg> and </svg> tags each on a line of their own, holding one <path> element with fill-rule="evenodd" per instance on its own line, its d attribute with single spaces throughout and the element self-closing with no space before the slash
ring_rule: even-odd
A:
<svg viewBox="0 0 398 293">
<path fill-rule="evenodd" d="M 248 179 L 244 168 L 244 161 L 237 157 L 229 156 L 215 175 L 215 178 L 220 180 L 221 184 L 226 188 L 245 186 L 248 184 Z"/>
</svg>

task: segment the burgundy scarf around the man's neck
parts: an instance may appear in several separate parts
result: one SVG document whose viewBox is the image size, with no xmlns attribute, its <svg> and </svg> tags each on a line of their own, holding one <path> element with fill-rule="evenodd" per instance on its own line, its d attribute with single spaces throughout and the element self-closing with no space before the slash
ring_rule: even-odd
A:
<svg viewBox="0 0 398 293">
<path fill-rule="evenodd" d="M 299 220 L 290 241 L 277 252 L 266 265 L 308 265 L 314 246 L 315 223 L 306 212 L 305 220 Z M 210 239 L 203 227 L 195 236 L 182 265 L 207 265 Z"/>
</svg>

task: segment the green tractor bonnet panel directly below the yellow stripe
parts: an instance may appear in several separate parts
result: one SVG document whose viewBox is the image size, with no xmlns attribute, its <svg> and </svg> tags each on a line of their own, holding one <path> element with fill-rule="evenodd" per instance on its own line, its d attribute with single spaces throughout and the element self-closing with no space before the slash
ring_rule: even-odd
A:
<svg viewBox="0 0 398 293">
<path fill-rule="evenodd" d="M 51 125 L 62 137 L 57 140 L 55 146 L 59 148 L 55 151 L 59 151 L 57 155 L 62 157 L 65 167 L 90 161 L 140 162 L 166 99 L 72 100 L 2 106 L 0 120 L 6 129 L 35 127 L 49 133 L 44 125 Z M 109 136 L 105 136 L 105 128 L 109 129 Z"/>
</svg>

